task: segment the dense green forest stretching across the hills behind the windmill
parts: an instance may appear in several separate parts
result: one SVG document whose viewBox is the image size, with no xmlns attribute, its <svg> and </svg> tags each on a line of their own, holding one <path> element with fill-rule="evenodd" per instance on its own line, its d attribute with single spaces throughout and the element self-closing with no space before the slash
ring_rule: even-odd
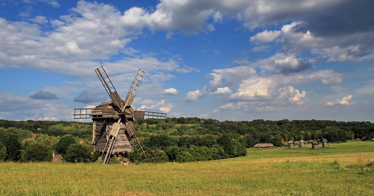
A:
<svg viewBox="0 0 374 196">
<path fill-rule="evenodd" d="M 0 120 L 0 161 L 50 161 L 52 153 L 68 162 L 94 162 L 92 122 Z M 294 139 L 345 142 L 374 138 L 374 123 L 330 120 L 218 121 L 196 117 L 135 120 L 148 151 L 143 162 L 189 162 L 245 156 L 257 143 L 283 145 Z M 139 157 L 131 161 L 136 162 Z"/>
</svg>

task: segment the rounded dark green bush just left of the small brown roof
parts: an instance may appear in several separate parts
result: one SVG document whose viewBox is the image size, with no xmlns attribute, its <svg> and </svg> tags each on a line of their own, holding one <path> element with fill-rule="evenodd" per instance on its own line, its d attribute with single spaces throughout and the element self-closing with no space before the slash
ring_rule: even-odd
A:
<svg viewBox="0 0 374 196">
<path fill-rule="evenodd" d="M 44 144 L 30 143 L 21 153 L 22 162 L 52 161 L 52 150 Z"/>
</svg>

